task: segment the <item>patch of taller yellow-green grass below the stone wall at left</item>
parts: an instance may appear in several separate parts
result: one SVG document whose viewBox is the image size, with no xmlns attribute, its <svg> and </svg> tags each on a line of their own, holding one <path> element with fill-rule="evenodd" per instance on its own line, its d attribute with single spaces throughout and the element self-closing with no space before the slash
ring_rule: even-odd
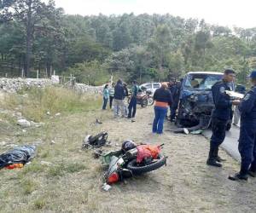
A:
<svg viewBox="0 0 256 213">
<path fill-rule="evenodd" d="M 75 113 L 93 110 L 102 105 L 98 95 L 79 95 L 73 90 L 61 87 L 49 87 L 46 89 L 28 89 L 18 94 L 4 97 L 0 107 L 11 110 L 20 108 L 20 112 L 26 118 L 35 122 L 41 122 L 45 118 L 54 116 L 55 113 Z"/>
</svg>

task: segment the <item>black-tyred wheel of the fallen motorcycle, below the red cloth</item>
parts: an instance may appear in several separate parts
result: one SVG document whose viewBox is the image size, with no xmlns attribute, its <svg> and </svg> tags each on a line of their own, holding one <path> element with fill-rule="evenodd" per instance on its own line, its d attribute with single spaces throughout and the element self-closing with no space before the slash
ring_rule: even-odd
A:
<svg viewBox="0 0 256 213">
<path fill-rule="evenodd" d="M 154 159 L 151 162 L 151 164 L 143 165 L 143 166 L 137 164 L 137 159 L 133 159 L 127 164 L 127 169 L 131 170 L 133 175 L 141 175 L 148 171 L 157 170 L 165 164 L 166 164 L 166 157 L 160 154 L 157 159 Z"/>
</svg>

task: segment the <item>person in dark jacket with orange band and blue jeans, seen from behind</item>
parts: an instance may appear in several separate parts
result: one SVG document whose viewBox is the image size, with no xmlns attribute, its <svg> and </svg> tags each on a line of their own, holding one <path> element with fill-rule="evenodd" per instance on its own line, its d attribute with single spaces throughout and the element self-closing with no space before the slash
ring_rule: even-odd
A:
<svg viewBox="0 0 256 213">
<path fill-rule="evenodd" d="M 155 103 L 152 131 L 153 133 L 162 134 L 168 106 L 172 104 L 172 94 L 167 83 L 162 83 L 161 87 L 155 90 L 153 99 Z"/>
</svg>

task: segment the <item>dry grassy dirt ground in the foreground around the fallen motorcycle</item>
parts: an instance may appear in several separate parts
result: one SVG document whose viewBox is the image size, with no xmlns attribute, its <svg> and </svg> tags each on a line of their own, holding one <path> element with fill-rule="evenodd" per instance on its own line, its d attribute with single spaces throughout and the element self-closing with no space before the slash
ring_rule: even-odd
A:
<svg viewBox="0 0 256 213">
<path fill-rule="evenodd" d="M 96 118 L 103 124 L 95 124 Z M 223 168 L 207 166 L 209 141 L 201 135 L 168 131 L 154 135 L 153 118 L 153 107 L 138 107 L 135 123 L 113 118 L 110 110 L 96 111 L 57 118 L 44 127 L 43 134 L 42 130 L 31 130 L 26 135 L 14 135 L 11 140 L 16 144 L 42 143 L 37 158 L 27 168 L 0 171 L 1 212 L 255 212 L 256 179 L 229 181 L 227 177 L 239 169 L 234 159 L 221 150 L 221 157 L 227 159 Z M 166 122 L 165 128 L 171 124 Z M 91 158 L 91 151 L 80 149 L 84 135 L 101 130 L 108 131 L 112 149 L 126 139 L 165 143 L 166 167 L 119 182 L 103 192 L 99 160 Z M 0 141 L 7 137 L 0 136 Z M 42 166 L 42 160 L 84 167 L 58 171 Z M 34 186 L 32 190 L 22 186 L 27 181 Z"/>
</svg>

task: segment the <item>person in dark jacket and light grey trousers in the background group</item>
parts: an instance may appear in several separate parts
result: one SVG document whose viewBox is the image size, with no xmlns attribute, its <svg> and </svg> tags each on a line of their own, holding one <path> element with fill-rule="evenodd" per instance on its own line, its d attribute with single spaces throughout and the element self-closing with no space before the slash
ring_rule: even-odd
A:
<svg viewBox="0 0 256 213">
<path fill-rule="evenodd" d="M 122 118 L 125 118 L 125 87 L 122 83 L 122 80 L 119 79 L 114 86 L 114 95 L 113 95 L 113 115 L 114 117 L 119 116 L 119 110 L 121 111 Z"/>
</svg>

